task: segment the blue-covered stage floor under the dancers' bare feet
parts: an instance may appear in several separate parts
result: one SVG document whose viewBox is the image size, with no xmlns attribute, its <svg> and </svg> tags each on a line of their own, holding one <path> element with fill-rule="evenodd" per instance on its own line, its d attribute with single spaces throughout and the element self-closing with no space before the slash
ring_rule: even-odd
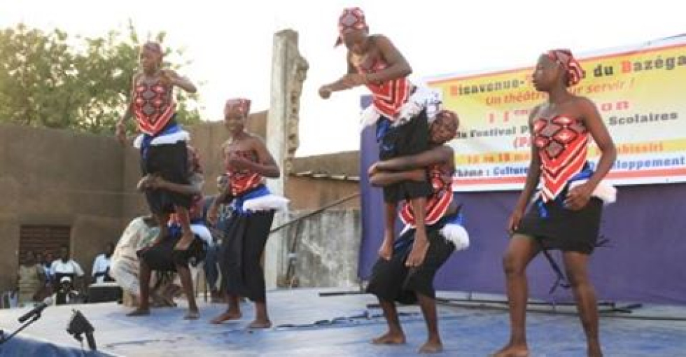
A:
<svg viewBox="0 0 686 357">
<path fill-rule="evenodd" d="M 201 318 L 182 319 L 179 307 L 153 309 L 151 316 L 127 317 L 130 309 L 116 303 L 48 307 L 43 316 L 18 337 L 0 346 L 0 356 L 416 356 L 426 338 L 419 308 L 401 307 L 407 335 L 402 346 L 376 346 L 370 339 L 385 331 L 381 311 L 372 295 L 322 297 L 332 289 L 296 289 L 269 292 L 274 328 L 247 330 L 253 311 L 243 304 L 244 318 L 223 325 L 209 319 L 225 305 L 203 302 Z M 508 320 L 503 297 L 440 293 L 440 330 L 445 351 L 436 356 L 488 356 L 507 341 Z M 584 337 L 577 316 L 568 306 L 555 309 L 533 304 L 528 314 L 531 356 L 584 356 Z M 686 307 L 626 304 L 601 306 L 601 341 L 605 356 L 686 356 Z M 94 325 L 98 353 L 88 353 L 66 332 L 71 309 L 80 310 Z M 622 309 L 624 309 L 622 311 Z M 19 327 L 17 318 L 27 309 L 0 311 L 6 334 Z"/>
</svg>

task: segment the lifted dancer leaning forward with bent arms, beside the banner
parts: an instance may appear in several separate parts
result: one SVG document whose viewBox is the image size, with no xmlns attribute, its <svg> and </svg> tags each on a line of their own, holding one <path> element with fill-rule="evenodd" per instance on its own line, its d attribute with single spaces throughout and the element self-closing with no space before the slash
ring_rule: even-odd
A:
<svg viewBox="0 0 686 357">
<path fill-rule="evenodd" d="M 365 111 L 367 122 L 376 124 L 379 158 L 389 160 L 415 155 L 428 149 L 426 91 L 417 90 L 407 76 L 412 72 L 400 51 L 386 36 L 369 34 L 365 15 L 360 8 L 346 8 L 338 20 L 336 45 L 348 49 L 348 73 L 319 89 L 322 98 L 332 92 L 365 85 L 372 92 L 372 105 Z M 416 239 L 406 264 L 418 267 L 424 260 L 426 238 L 426 197 L 432 190 L 428 180 L 402 181 L 384 186 L 385 232 L 379 256 L 386 260 L 393 254 L 393 229 L 397 205 L 410 200 L 416 220 Z"/>
</svg>

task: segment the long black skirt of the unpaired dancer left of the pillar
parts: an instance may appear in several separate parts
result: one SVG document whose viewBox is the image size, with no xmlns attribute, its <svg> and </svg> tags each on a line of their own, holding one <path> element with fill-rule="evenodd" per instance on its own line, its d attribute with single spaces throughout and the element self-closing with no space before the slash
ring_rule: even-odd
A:
<svg viewBox="0 0 686 357">
<path fill-rule="evenodd" d="M 219 253 L 219 266 L 230 295 L 264 302 L 265 274 L 260 265 L 262 252 L 272 229 L 274 210 L 234 214 L 226 222 Z"/>
</svg>

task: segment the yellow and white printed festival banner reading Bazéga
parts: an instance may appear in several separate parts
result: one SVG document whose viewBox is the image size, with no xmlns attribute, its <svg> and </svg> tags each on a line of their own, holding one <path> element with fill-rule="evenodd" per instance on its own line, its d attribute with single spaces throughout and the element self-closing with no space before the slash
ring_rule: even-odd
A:
<svg viewBox="0 0 686 357">
<path fill-rule="evenodd" d="M 579 57 L 586 76 L 570 90 L 596 102 L 618 149 L 612 183 L 686 181 L 686 37 L 596 51 Z M 532 59 L 532 65 L 534 64 Z M 428 81 L 458 113 L 452 142 L 459 191 L 519 190 L 530 156 L 528 116 L 545 94 L 533 66 Z M 589 159 L 598 159 L 591 144 Z"/>
</svg>

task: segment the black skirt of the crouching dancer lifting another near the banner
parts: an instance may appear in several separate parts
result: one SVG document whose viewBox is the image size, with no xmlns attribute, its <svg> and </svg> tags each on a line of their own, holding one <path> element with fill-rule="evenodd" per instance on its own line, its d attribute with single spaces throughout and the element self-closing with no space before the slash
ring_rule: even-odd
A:
<svg viewBox="0 0 686 357">
<path fill-rule="evenodd" d="M 412 251 L 415 230 L 409 230 L 398 237 L 391 260 L 379 258 L 374 264 L 367 293 L 377 295 L 380 300 L 403 304 L 414 304 L 417 301 L 416 294 L 435 298 L 433 278 L 455 250 L 455 246 L 439 234 L 443 222 L 439 221 L 426 228 L 429 247 L 419 267 L 405 266 L 405 260 Z"/>
</svg>

